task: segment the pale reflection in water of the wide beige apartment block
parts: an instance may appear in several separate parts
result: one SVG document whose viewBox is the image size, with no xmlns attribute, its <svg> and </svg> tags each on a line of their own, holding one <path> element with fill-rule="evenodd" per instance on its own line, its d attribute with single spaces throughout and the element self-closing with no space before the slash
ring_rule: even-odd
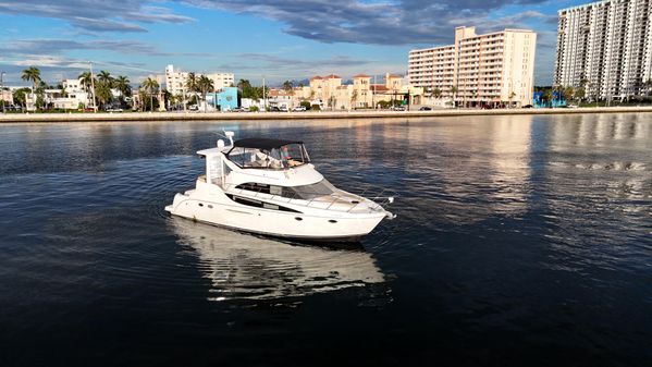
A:
<svg viewBox="0 0 652 367">
<path fill-rule="evenodd" d="M 411 124 L 406 174 L 439 221 L 519 216 L 531 193 L 532 117 L 451 118 Z"/>
</svg>

